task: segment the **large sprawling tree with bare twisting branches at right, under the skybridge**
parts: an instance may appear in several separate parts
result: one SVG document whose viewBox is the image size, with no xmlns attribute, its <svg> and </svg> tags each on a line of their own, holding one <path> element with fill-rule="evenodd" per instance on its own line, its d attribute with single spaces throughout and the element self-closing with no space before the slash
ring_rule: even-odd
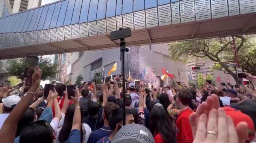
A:
<svg viewBox="0 0 256 143">
<path fill-rule="evenodd" d="M 256 75 L 256 36 L 235 36 L 236 49 L 244 71 Z M 168 44 L 168 51 L 172 60 L 204 58 L 213 62 L 235 60 L 232 37 L 189 40 Z M 212 70 L 223 71 L 238 81 L 234 68 L 228 63 L 219 63 L 211 66 Z"/>
</svg>

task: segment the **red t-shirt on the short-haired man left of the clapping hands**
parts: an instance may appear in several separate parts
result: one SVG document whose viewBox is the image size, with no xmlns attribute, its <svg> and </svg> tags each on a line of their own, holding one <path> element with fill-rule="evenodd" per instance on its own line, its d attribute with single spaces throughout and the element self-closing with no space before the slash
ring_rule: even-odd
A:
<svg viewBox="0 0 256 143">
<path fill-rule="evenodd" d="M 192 129 L 191 125 L 189 123 L 189 116 L 193 113 L 194 111 L 191 110 L 190 108 L 187 108 L 183 110 L 178 118 L 177 118 L 177 142 L 178 143 L 192 143 L 193 142 L 193 134 L 192 134 Z"/>
</svg>

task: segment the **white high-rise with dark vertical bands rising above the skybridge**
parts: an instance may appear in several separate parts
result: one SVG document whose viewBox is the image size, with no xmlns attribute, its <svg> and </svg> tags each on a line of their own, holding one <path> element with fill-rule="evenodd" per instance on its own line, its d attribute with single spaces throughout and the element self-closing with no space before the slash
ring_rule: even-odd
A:
<svg viewBox="0 0 256 143">
<path fill-rule="evenodd" d="M 13 13 L 41 6 L 42 0 L 9 0 Z"/>
</svg>

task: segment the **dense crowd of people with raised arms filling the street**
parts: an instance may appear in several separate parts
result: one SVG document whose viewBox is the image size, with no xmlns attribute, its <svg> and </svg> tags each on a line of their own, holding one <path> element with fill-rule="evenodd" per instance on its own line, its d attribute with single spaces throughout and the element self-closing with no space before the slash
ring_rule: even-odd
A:
<svg viewBox="0 0 256 143">
<path fill-rule="evenodd" d="M 249 143 L 256 125 L 256 91 L 210 80 L 201 88 L 145 88 L 129 82 L 83 83 L 71 100 L 56 85 L 48 96 L 32 84 L 0 89 L 1 143 Z M 247 74 L 256 83 L 256 77 Z M 47 97 L 45 99 L 44 97 Z M 123 102 L 123 97 L 125 101 Z M 125 108 L 125 109 L 124 109 Z M 123 118 L 125 111 L 125 118 Z M 124 125 L 125 123 L 125 125 Z"/>
</svg>

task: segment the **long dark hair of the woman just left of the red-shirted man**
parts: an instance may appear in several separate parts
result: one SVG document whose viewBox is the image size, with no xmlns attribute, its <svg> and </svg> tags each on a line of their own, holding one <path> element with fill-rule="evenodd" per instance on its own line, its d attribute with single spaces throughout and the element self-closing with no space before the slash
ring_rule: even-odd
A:
<svg viewBox="0 0 256 143">
<path fill-rule="evenodd" d="M 173 119 L 168 116 L 163 107 L 153 107 L 150 116 L 150 132 L 154 136 L 158 133 L 161 134 L 164 143 L 176 143 L 176 131 L 172 124 Z"/>
</svg>

